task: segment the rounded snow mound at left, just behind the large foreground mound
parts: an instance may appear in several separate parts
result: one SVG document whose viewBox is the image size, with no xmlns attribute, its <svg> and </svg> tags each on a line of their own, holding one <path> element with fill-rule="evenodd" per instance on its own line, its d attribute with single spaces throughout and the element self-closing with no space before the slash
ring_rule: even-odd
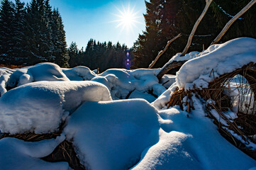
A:
<svg viewBox="0 0 256 170">
<path fill-rule="evenodd" d="M 8 86 L 21 86 L 33 81 L 69 81 L 69 79 L 57 64 L 45 62 L 16 69 L 9 78 Z"/>
</svg>

